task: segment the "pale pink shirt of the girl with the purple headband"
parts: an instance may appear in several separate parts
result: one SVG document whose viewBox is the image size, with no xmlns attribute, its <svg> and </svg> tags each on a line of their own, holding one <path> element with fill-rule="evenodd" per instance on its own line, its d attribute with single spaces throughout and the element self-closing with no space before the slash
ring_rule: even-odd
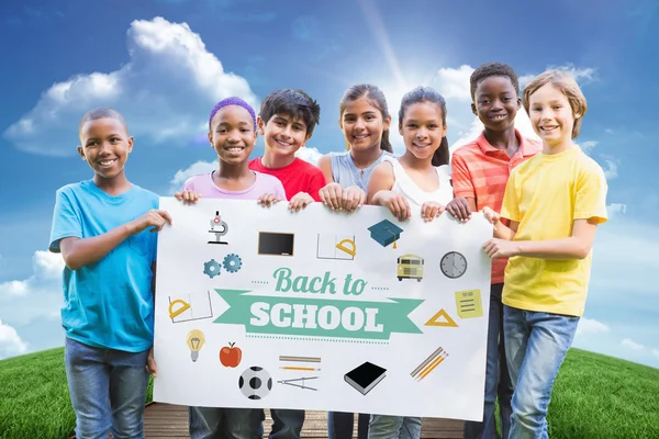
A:
<svg viewBox="0 0 659 439">
<path fill-rule="evenodd" d="M 181 191 L 199 192 L 201 196 L 209 199 L 258 200 L 260 195 L 271 193 L 279 200 L 287 200 L 281 181 L 272 176 L 253 171 L 256 175 L 254 184 L 243 191 L 227 191 L 215 184 L 213 172 L 190 177 Z"/>
</svg>

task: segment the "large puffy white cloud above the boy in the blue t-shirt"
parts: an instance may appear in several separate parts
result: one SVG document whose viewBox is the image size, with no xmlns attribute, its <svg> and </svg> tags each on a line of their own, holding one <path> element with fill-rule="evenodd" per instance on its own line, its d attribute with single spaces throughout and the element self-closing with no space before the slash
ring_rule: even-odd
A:
<svg viewBox="0 0 659 439">
<path fill-rule="evenodd" d="M 127 46 L 131 59 L 120 69 L 55 83 L 4 137 L 24 151 L 72 155 L 82 115 L 94 106 L 112 106 L 136 138 L 181 144 L 205 133 L 208 114 L 219 100 L 238 95 L 257 104 L 247 81 L 225 71 L 187 23 L 133 21 Z"/>
</svg>

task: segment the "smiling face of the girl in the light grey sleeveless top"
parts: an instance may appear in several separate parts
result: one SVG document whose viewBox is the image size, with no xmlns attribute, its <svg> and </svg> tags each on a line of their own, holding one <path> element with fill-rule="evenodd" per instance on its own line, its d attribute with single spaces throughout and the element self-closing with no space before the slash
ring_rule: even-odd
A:
<svg viewBox="0 0 659 439">
<path fill-rule="evenodd" d="M 382 133 L 389 130 L 391 116 L 382 119 L 382 112 L 367 98 L 348 102 L 338 121 L 350 148 L 365 150 L 379 147 Z"/>
</svg>

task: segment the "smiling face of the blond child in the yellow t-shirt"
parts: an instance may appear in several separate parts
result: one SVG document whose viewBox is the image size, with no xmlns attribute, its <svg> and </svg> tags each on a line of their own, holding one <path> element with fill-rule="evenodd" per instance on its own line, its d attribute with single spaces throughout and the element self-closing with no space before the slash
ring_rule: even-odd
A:
<svg viewBox="0 0 659 439">
<path fill-rule="evenodd" d="M 550 149 L 570 145 L 574 120 L 581 115 L 572 112 L 568 97 L 547 82 L 529 95 L 528 102 L 530 123 L 543 143 Z"/>
</svg>

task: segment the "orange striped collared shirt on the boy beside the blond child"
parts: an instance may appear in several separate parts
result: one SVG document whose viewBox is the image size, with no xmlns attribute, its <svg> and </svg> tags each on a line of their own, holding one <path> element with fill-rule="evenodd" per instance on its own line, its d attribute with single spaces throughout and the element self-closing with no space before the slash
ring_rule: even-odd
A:
<svg viewBox="0 0 659 439">
<path fill-rule="evenodd" d="M 501 212 L 505 184 L 511 171 L 543 149 L 541 142 L 524 138 L 517 130 L 515 134 L 520 139 L 520 149 L 513 157 L 509 157 L 505 150 L 490 145 L 484 133 L 454 151 L 451 175 L 456 198 L 474 199 L 478 211 L 488 206 L 495 212 Z M 507 259 L 504 258 L 492 261 L 492 283 L 503 282 L 506 262 Z"/>
</svg>

